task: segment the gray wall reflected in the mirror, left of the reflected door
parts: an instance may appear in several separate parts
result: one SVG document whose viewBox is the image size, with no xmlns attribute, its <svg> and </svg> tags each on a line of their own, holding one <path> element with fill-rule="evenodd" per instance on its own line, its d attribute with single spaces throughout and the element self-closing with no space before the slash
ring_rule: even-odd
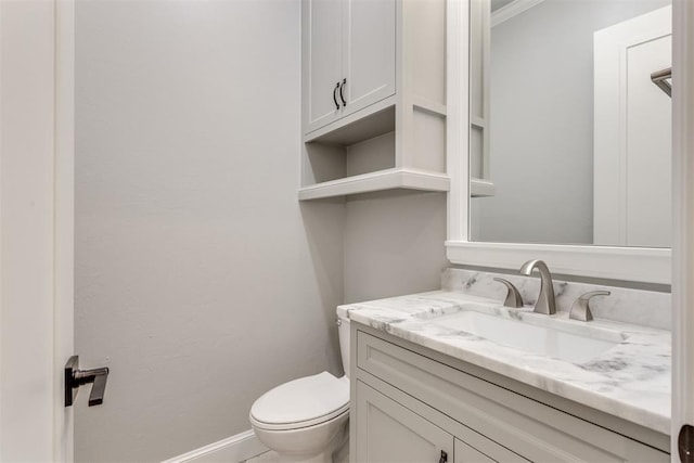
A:
<svg viewBox="0 0 694 463">
<path fill-rule="evenodd" d="M 593 33 L 669 0 L 547 0 L 491 33 L 491 178 L 473 236 L 593 242 Z"/>
</svg>

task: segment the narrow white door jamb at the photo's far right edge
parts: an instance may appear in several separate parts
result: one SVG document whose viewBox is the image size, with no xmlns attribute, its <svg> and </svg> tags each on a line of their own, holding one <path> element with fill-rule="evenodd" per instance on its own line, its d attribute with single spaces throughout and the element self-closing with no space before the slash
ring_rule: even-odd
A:
<svg viewBox="0 0 694 463">
<path fill-rule="evenodd" d="M 694 2 L 672 4 L 672 461 L 694 461 Z"/>
</svg>

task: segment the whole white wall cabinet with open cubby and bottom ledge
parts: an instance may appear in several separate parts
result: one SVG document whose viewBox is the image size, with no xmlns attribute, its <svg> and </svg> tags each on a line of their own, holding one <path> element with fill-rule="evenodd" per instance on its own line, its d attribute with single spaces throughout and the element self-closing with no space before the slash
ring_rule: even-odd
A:
<svg viewBox="0 0 694 463">
<path fill-rule="evenodd" d="M 448 191 L 446 0 L 304 0 L 299 200 Z"/>
</svg>

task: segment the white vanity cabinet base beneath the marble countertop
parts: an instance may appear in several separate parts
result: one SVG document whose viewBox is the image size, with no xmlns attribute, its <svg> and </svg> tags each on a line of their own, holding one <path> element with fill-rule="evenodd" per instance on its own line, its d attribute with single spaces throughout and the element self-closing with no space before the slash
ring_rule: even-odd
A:
<svg viewBox="0 0 694 463">
<path fill-rule="evenodd" d="M 352 462 L 669 462 L 669 436 L 352 322 Z"/>
</svg>

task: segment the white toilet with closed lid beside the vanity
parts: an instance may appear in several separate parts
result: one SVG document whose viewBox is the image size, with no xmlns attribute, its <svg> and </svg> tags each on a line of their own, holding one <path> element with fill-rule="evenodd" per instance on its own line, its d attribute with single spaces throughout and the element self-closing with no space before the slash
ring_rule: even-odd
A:
<svg viewBox="0 0 694 463">
<path fill-rule="evenodd" d="M 349 320 L 338 317 L 345 375 L 329 372 L 300 377 L 270 389 L 250 408 L 258 439 L 279 463 L 332 463 L 349 433 Z"/>
</svg>

